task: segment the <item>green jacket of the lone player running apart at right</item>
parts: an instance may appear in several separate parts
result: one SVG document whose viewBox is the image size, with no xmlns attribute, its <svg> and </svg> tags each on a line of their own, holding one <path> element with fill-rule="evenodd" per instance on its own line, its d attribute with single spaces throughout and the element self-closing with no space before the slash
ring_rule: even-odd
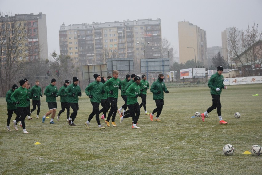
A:
<svg viewBox="0 0 262 175">
<path fill-rule="evenodd" d="M 213 95 L 220 95 L 222 92 L 222 88 L 224 89 L 224 76 L 219 75 L 218 72 L 211 75 L 208 81 L 208 87 L 210 88 L 210 93 Z M 216 88 L 219 88 L 220 91 L 216 91 Z"/>
</svg>

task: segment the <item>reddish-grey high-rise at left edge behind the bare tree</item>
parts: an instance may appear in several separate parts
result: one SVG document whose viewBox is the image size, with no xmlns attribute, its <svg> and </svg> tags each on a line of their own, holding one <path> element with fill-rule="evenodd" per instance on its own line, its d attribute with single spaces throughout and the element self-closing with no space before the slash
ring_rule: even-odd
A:
<svg viewBox="0 0 262 175">
<path fill-rule="evenodd" d="M 8 15 L 0 17 L 0 25 L 2 34 L 7 34 L 12 30 L 12 32 L 24 33 L 23 38 L 19 34 L 10 35 L 14 47 L 19 43 L 19 60 L 34 60 L 34 59 L 47 59 L 47 29 L 46 29 L 46 15 L 39 14 L 15 14 L 15 16 L 10 17 Z M 15 26 L 13 26 L 15 25 Z M 20 27 L 22 26 L 22 27 Z M 23 31 L 21 31 L 23 29 Z M 3 37 L 3 36 L 2 36 Z M 19 38 L 16 38 L 19 37 Z M 7 38 L 6 38 L 7 39 Z M 21 40 L 21 41 L 19 41 Z M 11 43 L 9 41 L 9 44 Z M 3 42 L 4 43 L 4 42 Z M 2 45 L 2 52 L 8 54 L 8 47 Z M 13 52 L 11 52 L 13 53 Z"/>
</svg>

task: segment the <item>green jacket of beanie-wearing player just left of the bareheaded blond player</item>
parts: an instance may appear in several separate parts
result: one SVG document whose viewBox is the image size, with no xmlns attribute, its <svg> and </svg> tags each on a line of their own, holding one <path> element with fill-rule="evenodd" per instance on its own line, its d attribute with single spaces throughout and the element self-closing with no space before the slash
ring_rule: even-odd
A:
<svg viewBox="0 0 262 175">
<path fill-rule="evenodd" d="M 91 102 L 100 103 L 102 98 L 102 90 L 104 90 L 103 83 L 94 81 L 85 88 L 85 94 L 87 96 L 93 96 L 92 98 L 90 98 Z"/>
</svg>

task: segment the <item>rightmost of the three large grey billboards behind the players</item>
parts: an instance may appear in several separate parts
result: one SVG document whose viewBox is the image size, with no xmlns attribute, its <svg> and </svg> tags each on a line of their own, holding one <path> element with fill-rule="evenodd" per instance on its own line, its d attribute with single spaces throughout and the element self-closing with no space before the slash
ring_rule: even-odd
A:
<svg viewBox="0 0 262 175">
<path fill-rule="evenodd" d="M 169 72 L 169 58 L 140 59 L 141 73 Z"/>
</svg>

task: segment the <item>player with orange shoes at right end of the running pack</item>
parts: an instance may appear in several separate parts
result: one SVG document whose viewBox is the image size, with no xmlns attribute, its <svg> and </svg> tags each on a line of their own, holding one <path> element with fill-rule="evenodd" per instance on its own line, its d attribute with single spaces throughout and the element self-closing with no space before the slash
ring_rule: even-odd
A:
<svg viewBox="0 0 262 175">
<path fill-rule="evenodd" d="M 150 120 L 153 121 L 153 115 L 157 112 L 157 116 L 155 118 L 155 121 L 161 121 L 159 120 L 159 116 L 162 112 L 163 106 L 164 106 L 164 93 L 169 93 L 167 90 L 165 83 L 163 82 L 164 75 L 159 74 L 157 81 L 152 83 L 152 86 L 150 88 L 150 92 L 153 93 L 153 100 L 156 103 L 156 108 L 153 110 L 153 112 L 150 114 Z"/>
</svg>

